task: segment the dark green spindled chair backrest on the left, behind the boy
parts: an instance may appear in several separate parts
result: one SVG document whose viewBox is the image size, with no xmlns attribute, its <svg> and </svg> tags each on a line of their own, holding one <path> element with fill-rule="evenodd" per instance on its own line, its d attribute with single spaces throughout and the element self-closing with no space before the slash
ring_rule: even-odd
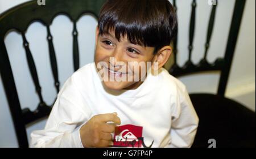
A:
<svg viewBox="0 0 256 159">
<path fill-rule="evenodd" d="M 40 1 L 43 2 L 43 1 Z M 55 49 L 52 42 L 52 35 L 49 29 L 52 20 L 59 14 L 67 15 L 73 23 L 73 66 L 74 71 L 79 68 L 79 45 L 77 42 L 76 22 L 81 15 L 89 13 L 98 19 L 101 6 L 105 0 L 47 0 L 46 5 L 40 6 L 37 0 L 29 1 L 18 5 L 0 15 L 0 73 L 5 89 L 7 101 L 13 118 L 16 136 L 19 147 L 28 147 L 26 134 L 26 125 L 40 118 L 49 115 L 52 105 L 46 105 L 41 93 L 41 87 L 36 71 L 34 59 L 32 57 L 29 42 L 25 33 L 32 22 L 40 22 L 47 28 L 47 41 L 49 46 L 49 57 L 51 61 L 51 70 L 55 80 L 56 91 L 59 92 L 59 77 Z M 21 109 L 18 93 L 14 82 L 13 71 L 11 69 L 9 57 L 7 54 L 4 38 L 10 29 L 18 31 L 23 38 L 23 46 L 26 50 L 26 58 L 32 80 L 34 82 L 36 93 L 40 99 L 35 111 L 28 108 Z"/>
</svg>

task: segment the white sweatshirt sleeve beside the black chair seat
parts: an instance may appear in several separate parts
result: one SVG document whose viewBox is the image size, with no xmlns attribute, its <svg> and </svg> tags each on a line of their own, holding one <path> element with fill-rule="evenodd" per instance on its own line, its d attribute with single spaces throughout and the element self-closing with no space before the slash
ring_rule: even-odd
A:
<svg viewBox="0 0 256 159">
<path fill-rule="evenodd" d="M 172 126 L 170 147 L 191 147 L 195 139 L 199 118 L 193 108 L 187 89 L 180 83 L 176 102 L 172 105 Z"/>
</svg>

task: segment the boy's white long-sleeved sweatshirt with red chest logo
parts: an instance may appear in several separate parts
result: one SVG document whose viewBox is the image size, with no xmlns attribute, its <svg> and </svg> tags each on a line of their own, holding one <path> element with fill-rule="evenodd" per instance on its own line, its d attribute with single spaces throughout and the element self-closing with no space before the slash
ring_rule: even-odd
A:
<svg viewBox="0 0 256 159">
<path fill-rule="evenodd" d="M 65 81 L 46 127 L 31 133 L 31 147 L 82 147 L 82 124 L 113 112 L 121 119 L 114 147 L 191 147 L 199 123 L 185 85 L 166 69 L 117 93 L 103 87 L 93 62 Z"/>
</svg>

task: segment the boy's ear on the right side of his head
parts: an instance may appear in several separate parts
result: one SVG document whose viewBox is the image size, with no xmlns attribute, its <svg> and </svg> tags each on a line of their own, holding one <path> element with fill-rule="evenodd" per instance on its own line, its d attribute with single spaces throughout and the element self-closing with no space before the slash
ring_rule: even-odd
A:
<svg viewBox="0 0 256 159">
<path fill-rule="evenodd" d="M 154 65 L 154 62 L 158 62 L 158 68 L 163 67 L 164 64 L 166 64 L 166 62 L 170 58 L 171 53 L 172 53 L 171 46 L 164 46 L 158 51 L 158 53 L 155 54 L 153 58 L 153 65 Z"/>
</svg>

